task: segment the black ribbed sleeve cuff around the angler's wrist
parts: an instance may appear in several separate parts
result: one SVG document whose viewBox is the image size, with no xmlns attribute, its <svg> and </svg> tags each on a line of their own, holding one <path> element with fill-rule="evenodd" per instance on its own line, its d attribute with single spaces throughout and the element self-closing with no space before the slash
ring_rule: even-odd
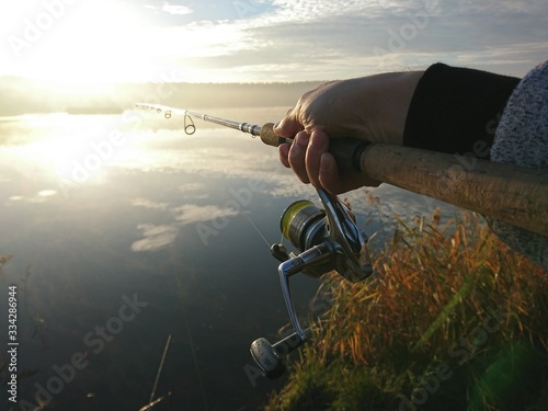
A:
<svg viewBox="0 0 548 411">
<path fill-rule="evenodd" d="M 403 145 L 489 158 L 499 118 L 520 79 L 435 64 L 416 84 Z"/>
</svg>

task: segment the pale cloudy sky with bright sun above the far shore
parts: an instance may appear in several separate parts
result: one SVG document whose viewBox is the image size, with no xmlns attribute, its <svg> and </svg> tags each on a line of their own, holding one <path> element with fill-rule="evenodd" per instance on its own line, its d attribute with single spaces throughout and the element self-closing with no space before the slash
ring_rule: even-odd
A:
<svg viewBox="0 0 548 411">
<path fill-rule="evenodd" d="M 0 5 L 0 76 L 65 83 L 290 82 L 446 64 L 524 76 L 546 0 L 25 0 Z"/>
</svg>

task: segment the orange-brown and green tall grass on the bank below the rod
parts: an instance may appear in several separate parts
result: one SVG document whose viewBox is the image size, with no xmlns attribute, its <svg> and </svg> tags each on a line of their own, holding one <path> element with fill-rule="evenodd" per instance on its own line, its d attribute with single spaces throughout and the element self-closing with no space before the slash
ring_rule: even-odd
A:
<svg viewBox="0 0 548 411">
<path fill-rule="evenodd" d="M 548 410 L 548 275 L 481 217 L 400 221 L 375 271 L 328 275 L 267 410 Z"/>
</svg>

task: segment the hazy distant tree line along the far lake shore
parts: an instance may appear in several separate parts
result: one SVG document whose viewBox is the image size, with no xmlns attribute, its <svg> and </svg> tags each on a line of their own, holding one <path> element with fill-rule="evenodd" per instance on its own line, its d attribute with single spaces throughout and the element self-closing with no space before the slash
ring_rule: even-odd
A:
<svg viewBox="0 0 548 411">
<path fill-rule="evenodd" d="M 68 112 L 112 114 L 151 102 L 185 109 L 287 106 L 320 81 L 285 83 L 117 83 L 73 88 L 0 78 L 0 116 Z"/>
</svg>

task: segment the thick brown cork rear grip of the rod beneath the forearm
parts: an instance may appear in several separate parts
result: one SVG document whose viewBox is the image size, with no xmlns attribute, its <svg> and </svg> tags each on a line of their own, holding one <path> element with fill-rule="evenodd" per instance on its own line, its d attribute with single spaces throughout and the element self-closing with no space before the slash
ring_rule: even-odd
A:
<svg viewBox="0 0 548 411">
<path fill-rule="evenodd" d="M 548 170 L 373 144 L 361 157 L 372 179 L 548 236 Z"/>
</svg>

